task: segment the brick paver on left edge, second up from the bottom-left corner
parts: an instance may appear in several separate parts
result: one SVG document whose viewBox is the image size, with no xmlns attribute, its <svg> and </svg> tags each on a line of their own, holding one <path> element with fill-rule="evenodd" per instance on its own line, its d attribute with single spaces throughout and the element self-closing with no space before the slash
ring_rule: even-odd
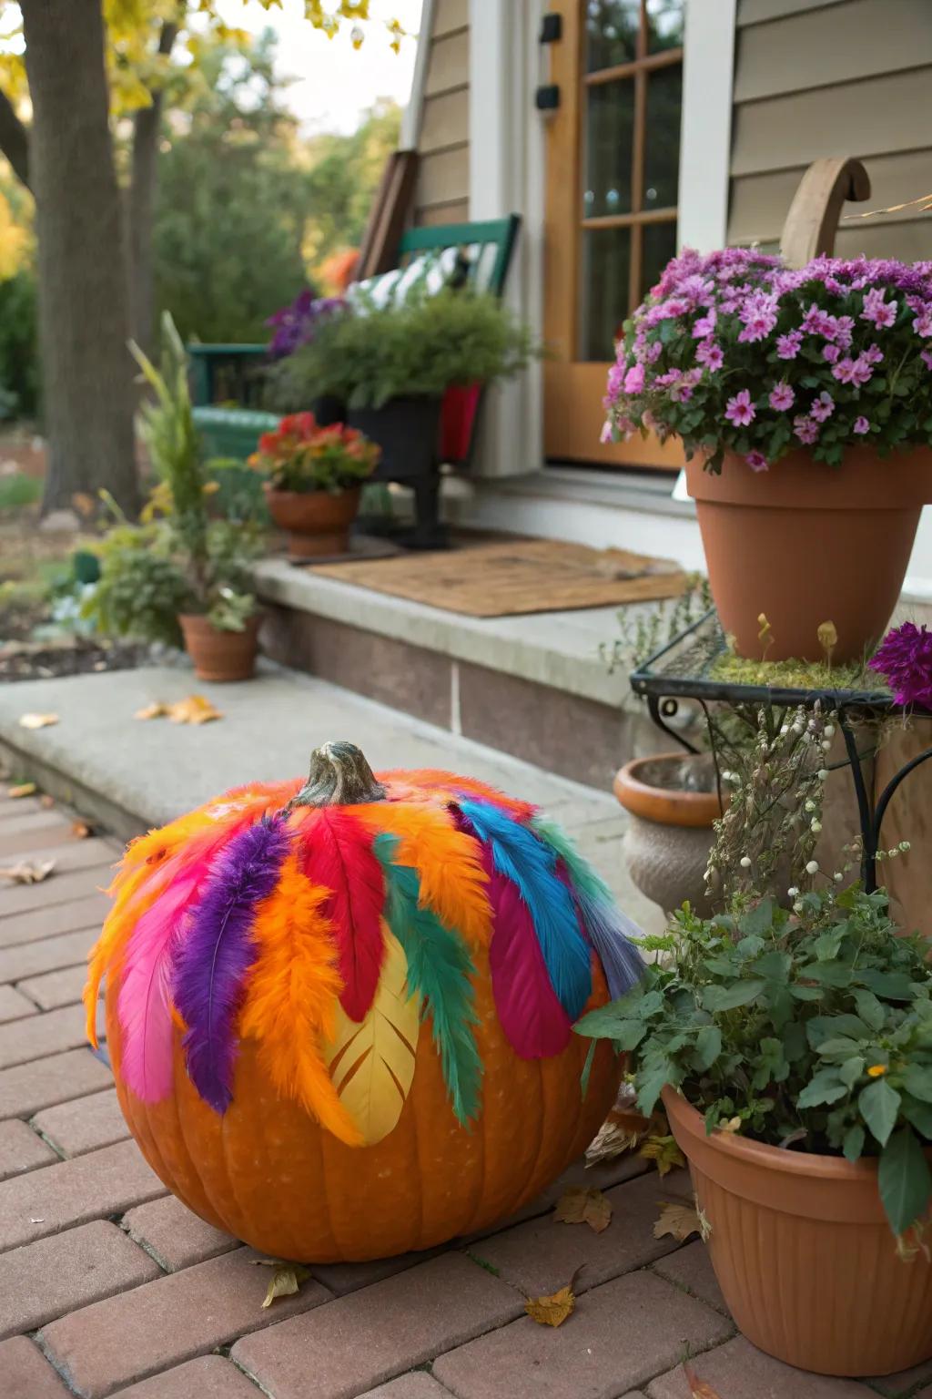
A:
<svg viewBox="0 0 932 1399">
<path fill-rule="evenodd" d="M 158 1263 L 103 1220 L 14 1248 L 0 1254 L 0 1336 L 35 1330 L 159 1276 Z"/>
</svg>

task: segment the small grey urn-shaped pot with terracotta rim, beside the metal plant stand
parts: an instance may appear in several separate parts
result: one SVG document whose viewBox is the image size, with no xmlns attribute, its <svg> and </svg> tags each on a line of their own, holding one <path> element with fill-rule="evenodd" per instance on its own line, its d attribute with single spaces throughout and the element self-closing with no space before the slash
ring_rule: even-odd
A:
<svg viewBox="0 0 932 1399">
<path fill-rule="evenodd" d="M 634 884 L 665 914 L 685 900 L 704 908 L 713 821 L 721 816 L 711 758 L 633 758 L 615 774 L 613 789 L 630 814 L 623 851 Z"/>
</svg>

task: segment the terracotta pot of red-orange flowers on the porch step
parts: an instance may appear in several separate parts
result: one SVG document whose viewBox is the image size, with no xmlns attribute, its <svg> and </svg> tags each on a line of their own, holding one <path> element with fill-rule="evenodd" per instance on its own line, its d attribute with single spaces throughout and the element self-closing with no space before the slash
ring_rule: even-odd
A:
<svg viewBox="0 0 932 1399">
<path fill-rule="evenodd" d="M 292 557 L 347 551 L 362 483 L 380 455 L 356 428 L 342 422 L 321 428 L 313 413 L 292 413 L 261 435 L 249 464 L 267 477 L 268 509 L 288 532 Z"/>
</svg>

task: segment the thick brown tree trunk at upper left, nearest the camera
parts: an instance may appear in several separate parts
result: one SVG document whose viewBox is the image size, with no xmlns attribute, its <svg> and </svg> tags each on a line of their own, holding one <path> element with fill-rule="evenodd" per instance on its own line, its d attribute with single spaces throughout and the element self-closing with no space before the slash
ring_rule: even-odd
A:
<svg viewBox="0 0 932 1399">
<path fill-rule="evenodd" d="M 134 513 L 134 374 L 101 0 L 22 0 L 21 7 L 34 113 L 43 511 L 105 487 Z"/>
</svg>

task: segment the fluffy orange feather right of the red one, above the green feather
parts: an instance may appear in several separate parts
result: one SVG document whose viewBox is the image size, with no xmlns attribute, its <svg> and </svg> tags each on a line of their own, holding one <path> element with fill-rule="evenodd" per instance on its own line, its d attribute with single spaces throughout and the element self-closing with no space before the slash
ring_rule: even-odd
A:
<svg viewBox="0 0 932 1399">
<path fill-rule="evenodd" d="M 372 802 L 354 811 L 370 831 L 398 837 L 394 862 L 416 869 L 421 907 L 429 908 L 444 928 L 460 932 L 468 943 L 488 946 L 492 912 L 482 851 L 471 835 L 456 828 L 451 813 L 446 807 L 394 802 Z"/>
</svg>

